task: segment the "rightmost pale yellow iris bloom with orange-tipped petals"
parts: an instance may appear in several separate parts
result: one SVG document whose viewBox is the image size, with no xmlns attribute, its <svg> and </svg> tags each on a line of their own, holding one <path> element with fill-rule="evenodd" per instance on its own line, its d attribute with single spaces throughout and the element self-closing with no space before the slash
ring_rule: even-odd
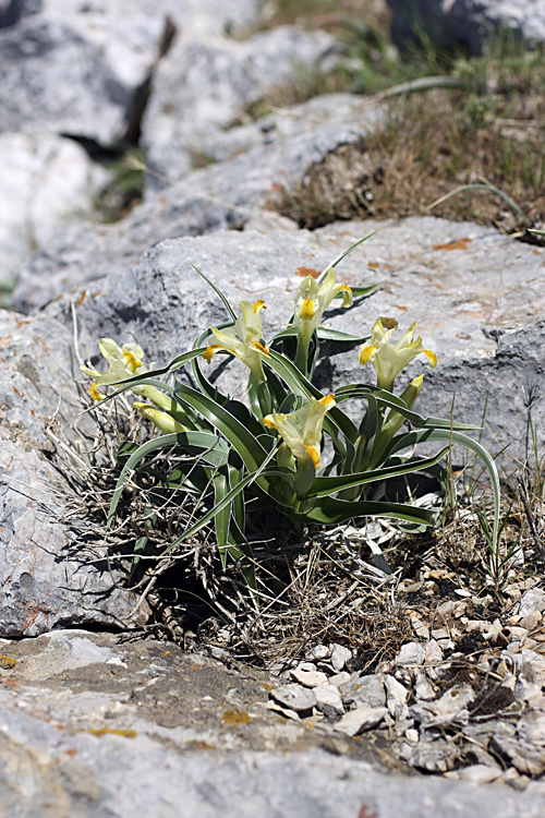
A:
<svg viewBox="0 0 545 818">
<path fill-rule="evenodd" d="M 360 363 L 372 363 L 377 374 L 377 384 L 382 389 L 391 390 L 393 381 L 408 363 L 416 356 L 425 354 L 433 368 L 437 357 L 431 349 L 424 349 L 422 338 L 414 338 L 414 321 L 403 337 L 393 346 L 390 336 L 398 326 L 395 318 L 377 318 L 370 342 L 360 350 Z"/>
</svg>

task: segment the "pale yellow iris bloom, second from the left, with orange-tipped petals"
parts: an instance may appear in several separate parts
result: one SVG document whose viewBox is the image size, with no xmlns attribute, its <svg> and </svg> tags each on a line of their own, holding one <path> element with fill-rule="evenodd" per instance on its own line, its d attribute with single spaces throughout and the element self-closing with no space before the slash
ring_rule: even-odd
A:
<svg viewBox="0 0 545 818">
<path fill-rule="evenodd" d="M 258 381 L 263 381 L 262 357 L 268 356 L 268 349 L 263 340 L 263 328 L 261 311 L 265 308 L 265 301 L 240 302 L 240 315 L 234 322 L 234 326 L 227 329 L 217 329 L 211 327 L 211 333 L 216 344 L 203 352 L 205 361 L 210 360 L 216 352 L 223 350 L 237 356 L 254 373 Z"/>
</svg>

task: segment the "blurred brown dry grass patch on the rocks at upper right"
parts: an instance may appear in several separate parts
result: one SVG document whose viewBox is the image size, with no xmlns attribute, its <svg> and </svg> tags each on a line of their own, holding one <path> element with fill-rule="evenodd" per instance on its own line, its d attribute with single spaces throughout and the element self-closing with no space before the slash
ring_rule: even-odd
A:
<svg viewBox="0 0 545 818">
<path fill-rule="evenodd" d="M 439 89 L 390 103 L 385 130 L 338 147 L 271 206 L 311 229 L 336 219 L 432 214 L 530 240 L 526 228 L 545 222 L 545 94 L 536 95 L 531 118 L 520 110 L 522 101 L 496 100 L 482 119 L 468 112 L 469 103 L 462 92 Z M 510 196 L 528 220 L 479 191 L 429 208 L 461 185 L 483 182 Z"/>
</svg>

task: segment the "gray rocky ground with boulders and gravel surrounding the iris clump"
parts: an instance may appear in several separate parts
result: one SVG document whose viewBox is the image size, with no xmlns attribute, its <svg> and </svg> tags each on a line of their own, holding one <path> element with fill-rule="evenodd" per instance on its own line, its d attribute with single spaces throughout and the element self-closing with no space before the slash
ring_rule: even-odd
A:
<svg viewBox="0 0 545 818">
<path fill-rule="evenodd" d="M 389 5 L 403 50 L 404 7 Z M 470 52 L 506 25 L 524 48 L 545 41 L 541 2 L 531 19 L 516 3 L 421 5 L 440 24 L 431 32 L 456 28 Z M 362 20 L 347 2 L 342 13 L 368 39 L 388 12 L 370 3 Z M 463 164 L 471 151 L 455 151 L 473 131 L 458 119 L 450 137 L 440 131 L 429 153 L 447 158 L 424 172 L 408 127 L 410 148 L 383 161 L 399 109 L 387 95 L 335 87 L 354 64 L 337 9 L 296 16 L 289 3 L 252 0 L 227 11 L 215 0 L 0 2 L 0 279 L 17 310 L 0 312 L 7 814 L 126 816 L 137 803 L 187 817 L 543 815 L 545 249 L 526 228 L 545 212 L 532 200 L 538 168 L 523 158 L 540 144 L 542 100 L 514 95 L 509 109 L 519 136 L 521 111 L 524 132 L 534 129 L 504 168 L 502 178 L 513 165 L 532 177 L 510 188 L 524 193 L 522 216 L 506 215 L 506 199 L 434 210 L 449 218 L 411 215 L 423 210 L 411 197 L 432 204 L 431 179 L 437 195 L 440 175 L 453 172 L 450 189 L 475 181 Z M 377 41 L 368 64 L 385 68 Z M 335 76 L 334 93 L 318 75 Z M 441 127 L 455 122 L 450 92 L 439 94 L 405 121 L 435 110 Z M 472 144 L 475 156 L 499 155 L 482 131 Z M 136 195 L 123 192 L 120 167 L 133 173 L 129 188 L 136 173 Z M 113 201 L 112 224 L 104 209 L 98 221 L 97 196 Z M 78 364 L 98 360 L 105 336 L 136 338 L 165 364 L 223 321 L 191 264 L 233 304 L 264 298 L 270 335 L 301 277 L 377 227 L 338 273 L 382 287 L 350 313 L 331 311 L 330 324 L 368 333 L 378 314 L 419 322 L 438 356 L 420 410 L 483 424 L 499 455 L 500 575 L 487 573 L 473 513 L 486 486 L 455 449 L 457 503 L 432 536 L 365 521 L 310 529 L 275 579 L 277 604 L 257 613 L 231 604 L 233 570 L 229 587 L 216 572 L 219 591 L 203 603 L 202 566 L 187 579 L 192 544 L 172 557 L 178 573 L 142 596 L 120 553 L 133 550 L 135 514 L 104 540 L 118 432 L 108 412 L 81 414 Z M 317 372 L 324 392 L 361 377 L 350 350 Z M 221 384 L 238 394 L 240 370 Z M 437 485 L 426 491 L 440 502 Z M 157 548 L 165 537 L 158 527 Z M 214 542 L 201 551 L 208 570 Z"/>
</svg>

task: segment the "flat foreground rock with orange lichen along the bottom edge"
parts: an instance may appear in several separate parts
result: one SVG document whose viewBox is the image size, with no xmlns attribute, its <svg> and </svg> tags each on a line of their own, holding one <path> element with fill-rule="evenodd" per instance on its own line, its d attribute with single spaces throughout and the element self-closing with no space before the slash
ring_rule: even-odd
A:
<svg viewBox="0 0 545 818">
<path fill-rule="evenodd" d="M 138 804 L 177 818 L 543 816 L 540 793 L 402 777 L 367 734 L 268 712 L 263 672 L 169 642 L 64 630 L 1 651 L 5 815 L 129 818 Z"/>
</svg>

